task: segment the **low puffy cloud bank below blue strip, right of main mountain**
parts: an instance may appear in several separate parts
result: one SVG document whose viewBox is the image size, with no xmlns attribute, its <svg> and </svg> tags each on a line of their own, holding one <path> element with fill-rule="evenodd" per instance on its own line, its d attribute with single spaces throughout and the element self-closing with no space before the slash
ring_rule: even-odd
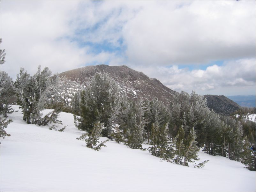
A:
<svg viewBox="0 0 256 192">
<path fill-rule="evenodd" d="M 178 69 L 172 67 L 134 67 L 135 70 L 144 70 L 147 76 L 159 79 L 164 85 L 175 91 L 200 94 L 225 94 L 237 92 L 241 94 L 255 94 L 255 58 L 229 61 L 223 66 L 212 65 L 206 70 Z M 238 89 L 238 90 L 237 90 Z"/>
</svg>

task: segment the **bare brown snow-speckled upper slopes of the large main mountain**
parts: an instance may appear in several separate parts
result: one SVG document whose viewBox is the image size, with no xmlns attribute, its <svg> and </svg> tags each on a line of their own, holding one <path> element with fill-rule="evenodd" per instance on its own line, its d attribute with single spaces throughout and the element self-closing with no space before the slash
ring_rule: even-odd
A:
<svg viewBox="0 0 256 192">
<path fill-rule="evenodd" d="M 62 72 L 60 76 L 80 84 L 88 84 L 95 73 L 104 73 L 113 78 L 119 84 L 121 92 L 126 92 L 130 98 L 152 100 L 154 97 L 157 97 L 163 103 L 168 104 L 168 101 L 175 94 L 175 91 L 163 85 L 159 80 L 150 78 L 144 73 L 133 70 L 126 65 L 86 66 Z"/>
</svg>

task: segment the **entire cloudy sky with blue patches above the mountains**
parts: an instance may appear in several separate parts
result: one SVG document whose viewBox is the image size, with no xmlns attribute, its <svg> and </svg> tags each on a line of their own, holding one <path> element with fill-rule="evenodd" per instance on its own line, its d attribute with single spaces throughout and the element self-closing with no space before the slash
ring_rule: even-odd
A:
<svg viewBox="0 0 256 192">
<path fill-rule="evenodd" d="M 1 1 L 1 66 L 127 65 L 175 91 L 255 95 L 255 1 Z"/>
</svg>

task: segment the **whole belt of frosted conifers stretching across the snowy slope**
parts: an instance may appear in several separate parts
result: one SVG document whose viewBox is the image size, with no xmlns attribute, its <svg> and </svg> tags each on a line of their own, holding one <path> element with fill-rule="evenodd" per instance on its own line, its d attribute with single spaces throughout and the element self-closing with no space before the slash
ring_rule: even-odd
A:
<svg viewBox="0 0 256 192">
<path fill-rule="evenodd" d="M 1 50 L 1 64 L 4 56 Z M 207 107 L 207 100 L 194 91 L 176 92 L 169 105 L 157 98 L 133 100 L 121 94 L 114 79 L 97 73 L 86 87 L 75 87 L 77 91 L 67 100 L 60 92 L 63 85 L 68 90 L 71 82 L 60 82 L 59 76 L 52 76 L 47 67 L 44 70 L 39 67 L 34 75 L 22 68 L 15 82 L 1 71 L 1 137 L 9 136 L 4 130 L 11 123 L 6 117 L 13 112 L 8 99 L 15 94 L 23 120 L 28 124 L 61 124 L 56 119 L 59 112 L 70 110 L 78 129 L 87 132 L 80 139 L 96 150 L 105 143 L 96 146 L 99 136 L 132 149 L 143 149 L 142 144 L 147 141 L 152 155 L 188 166 L 188 162 L 199 160 L 197 152 L 203 148 L 210 155 L 241 161 L 248 169 L 255 170 L 255 151 L 250 149 L 255 146 L 255 123 L 248 125 L 216 114 Z M 41 111 L 45 107 L 54 110 L 43 117 Z"/>
</svg>

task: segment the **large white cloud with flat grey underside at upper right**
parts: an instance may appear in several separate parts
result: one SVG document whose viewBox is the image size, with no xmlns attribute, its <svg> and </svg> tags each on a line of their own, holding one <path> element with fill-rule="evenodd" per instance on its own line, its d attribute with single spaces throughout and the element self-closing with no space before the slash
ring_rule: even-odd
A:
<svg viewBox="0 0 256 192">
<path fill-rule="evenodd" d="M 132 62 L 208 63 L 255 56 L 255 2 L 196 1 L 177 9 L 158 2 L 124 26 Z"/>
</svg>

